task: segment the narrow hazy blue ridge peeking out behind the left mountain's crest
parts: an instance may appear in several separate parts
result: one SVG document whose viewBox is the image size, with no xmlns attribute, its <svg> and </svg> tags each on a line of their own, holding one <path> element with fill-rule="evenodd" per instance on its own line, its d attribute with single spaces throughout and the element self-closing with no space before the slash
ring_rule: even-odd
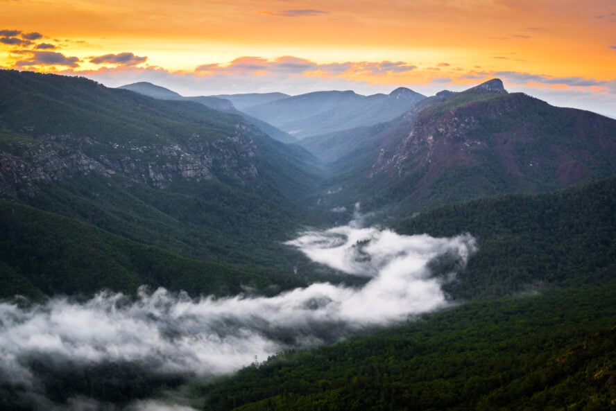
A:
<svg viewBox="0 0 616 411">
<path fill-rule="evenodd" d="M 158 98 L 160 100 L 188 100 L 194 101 L 199 104 L 205 105 L 205 107 L 209 107 L 214 110 L 219 110 L 221 112 L 227 112 L 230 114 L 238 114 L 242 116 L 244 119 L 253 123 L 259 130 L 268 134 L 269 137 L 276 139 L 278 141 L 282 141 L 283 143 L 293 143 L 296 141 L 295 138 L 291 137 L 286 132 L 275 128 L 273 125 L 265 123 L 259 119 L 255 119 L 255 117 L 248 116 L 248 114 L 244 114 L 239 112 L 234 107 L 234 104 L 225 98 L 219 98 L 217 96 L 194 96 L 194 97 L 184 97 L 180 96 L 180 94 L 175 91 L 171 91 L 164 87 L 160 87 L 157 85 L 153 85 L 150 82 L 135 82 L 128 85 L 123 85 L 118 87 L 119 89 L 126 89 L 130 91 L 135 91 L 135 93 L 143 94 L 144 96 Z M 260 101 L 260 100 L 259 100 Z"/>
</svg>

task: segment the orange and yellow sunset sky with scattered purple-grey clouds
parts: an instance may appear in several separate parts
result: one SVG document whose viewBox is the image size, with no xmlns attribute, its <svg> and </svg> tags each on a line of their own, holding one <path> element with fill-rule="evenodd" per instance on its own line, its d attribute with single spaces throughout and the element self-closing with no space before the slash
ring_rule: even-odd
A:
<svg viewBox="0 0 616 411">
<path fill-rule="evenodd" d="M 616 118 L 616 0 L 0 0 L 0 67 L 185 96 L 501 78 Z"/>
</svg>

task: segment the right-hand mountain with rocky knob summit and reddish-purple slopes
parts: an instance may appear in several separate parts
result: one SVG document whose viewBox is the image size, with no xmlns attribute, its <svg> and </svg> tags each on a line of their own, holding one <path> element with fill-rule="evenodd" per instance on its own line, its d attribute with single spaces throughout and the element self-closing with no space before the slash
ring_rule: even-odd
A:
<svg viewBox="0 0 616 411">
<path fill-rule="evenodd" d="M 341 190 L 324 197 L 325 207 L 397 203 L 407 216 L 437 204 L 616 174 L 616 121 L 509 94 L 498 79 L 440 93 L 375 128 L 302 144 L 332 160 L 326 190 Z M 350 149 L 343 153 L 343 146 Z"/>
</svg>

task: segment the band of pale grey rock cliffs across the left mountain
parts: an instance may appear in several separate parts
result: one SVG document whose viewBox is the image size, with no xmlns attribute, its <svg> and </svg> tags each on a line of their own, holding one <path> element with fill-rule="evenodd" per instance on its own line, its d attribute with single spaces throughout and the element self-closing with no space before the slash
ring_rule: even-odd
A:
<svg viewBox="0 0 616 411">
<path fill-rule="evenodd" d="M 180 179 L 200 182 L 223 174 L 245 185 L 258 176 L 256 146 L 246 137 L 197 140 L 189 146 L 101 146 L 87 137 L 67 135 L 8 143 L 0 151 L 0 195 L 33 195 L 37 182 L 76 173 L 118 174 L 159 189 Z"/>
</svg>

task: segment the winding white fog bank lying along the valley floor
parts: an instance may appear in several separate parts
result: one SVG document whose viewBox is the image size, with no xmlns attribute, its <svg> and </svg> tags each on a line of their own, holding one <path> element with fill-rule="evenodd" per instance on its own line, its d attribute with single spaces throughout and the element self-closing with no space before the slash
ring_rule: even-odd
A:
<svg viewBox="0 0 616 411">
<path fill-rule="evenodd" d="M 54 367 L 131 363 L 154 374 L 228 373 L 255 358 L 335 342 L 446 306 L 441 286 L 450 276 L 434 277 L 429 262 L 447 255 L 464 265 L 476 248 L 468 234 L 401 236 L 351 225 L 307 231 L 287 244 L 317 263 L 370 280 L 359 288 L 314 283 L 275 297 L 194 299 L 159 288 L 142 289 L 137 299 L 101 292 L 85 302 L 2 303 L 1 380 L 35 391 L 31 364 L 41 360 Z"/>
</svg>

